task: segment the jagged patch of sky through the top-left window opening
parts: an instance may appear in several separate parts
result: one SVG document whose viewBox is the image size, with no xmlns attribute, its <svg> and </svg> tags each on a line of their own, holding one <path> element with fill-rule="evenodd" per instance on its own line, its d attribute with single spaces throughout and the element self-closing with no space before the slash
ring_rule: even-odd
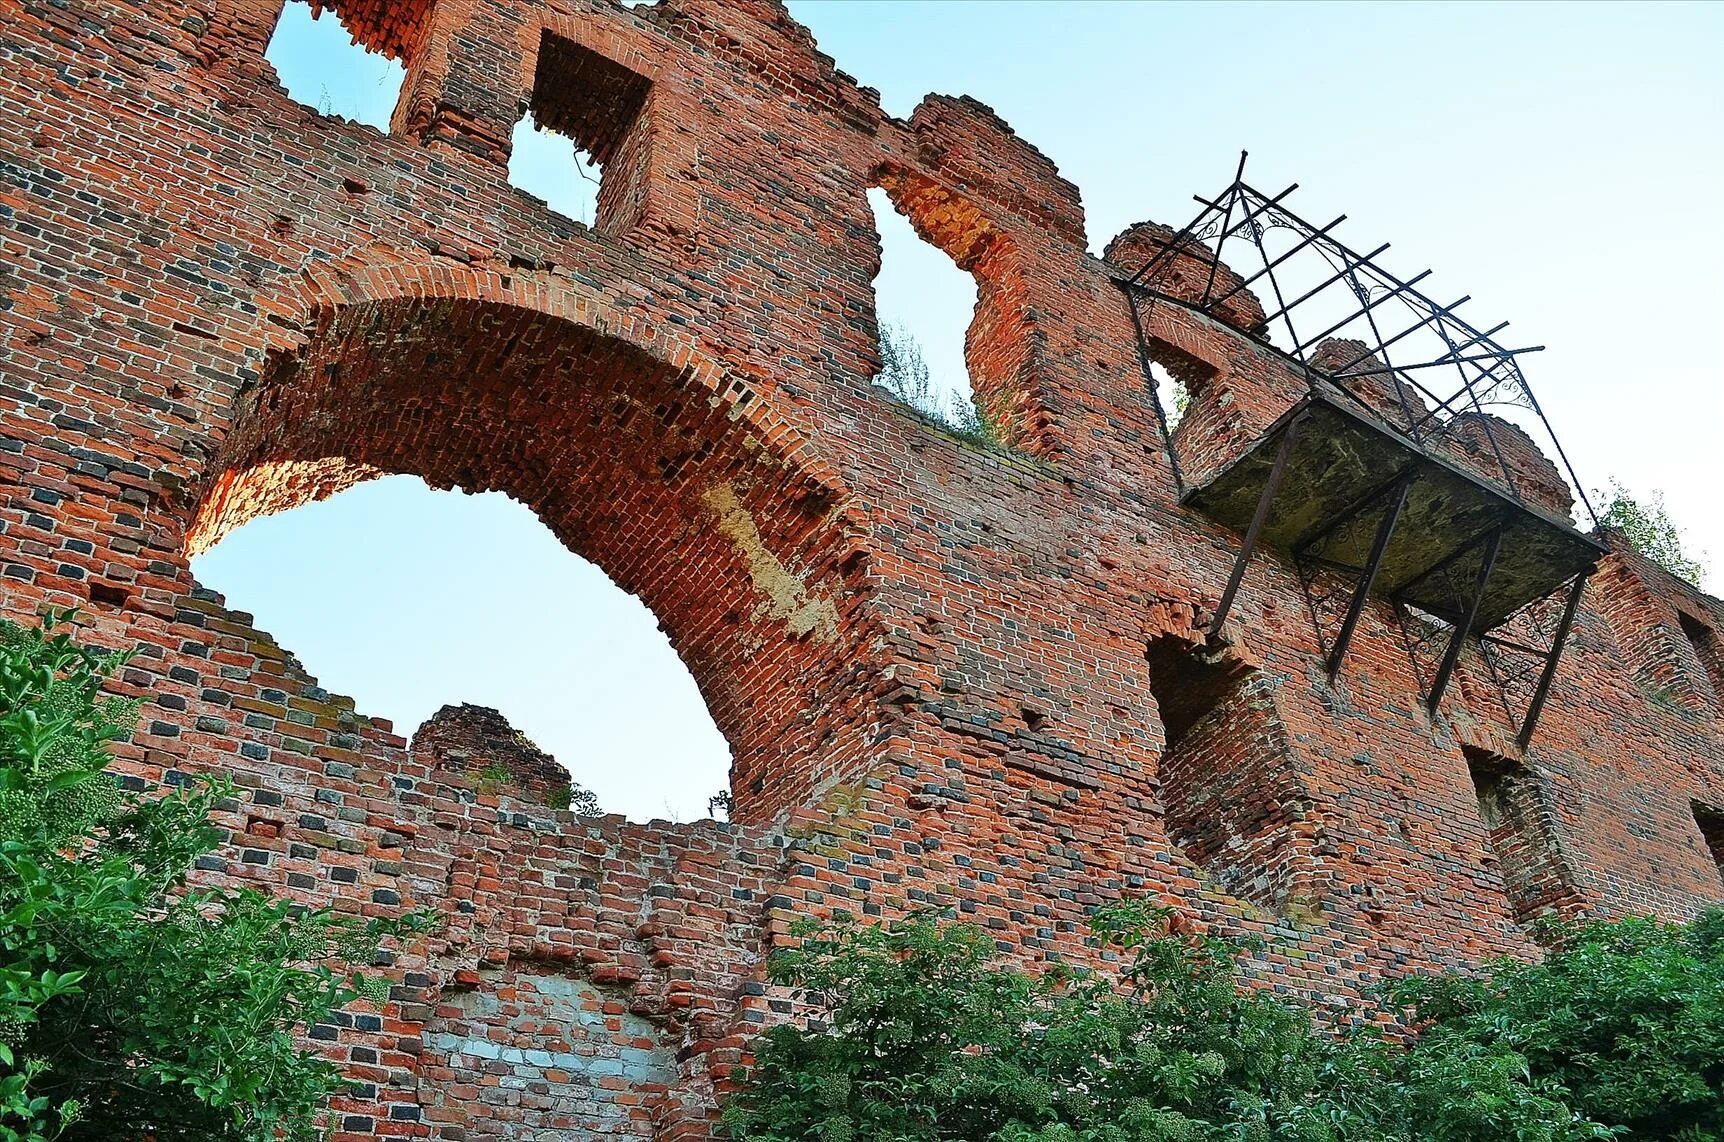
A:
<svg viewBox="0 0 1724 1142">
<path fill-rule="evenodd" d="M 388 131 L 407 81 L 402 48 L 367 47 L 329 7 L 288 0 L 264 57 L 293 100 Z"/>
</svg>

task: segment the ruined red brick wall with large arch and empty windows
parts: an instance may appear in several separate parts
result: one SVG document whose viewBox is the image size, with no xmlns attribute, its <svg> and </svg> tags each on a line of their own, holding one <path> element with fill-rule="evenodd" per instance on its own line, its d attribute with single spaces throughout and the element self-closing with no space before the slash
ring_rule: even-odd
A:
<svg viewBox="0 0 1724 1142">
<path fill-rule="evenodd" d="M 1238 538 L 1176 502 L 1134 266 L 986 107 L 893 119 L 767 0 L 324 7 L 407 64 L 388 133 L 283 93 L 279 0 L 0 0 L 0 611 L 143 647 L 126 764 L 245 790 L 209 876 L 448 921 L 384 1009 L 314 1028 L 365 1083 L 338 1137 L 707 1139 L 809 913 L 948 904 L 1033 963 L 1150 894 L 1345 997 L 1533 954 L 1543 911 L 1724 895 L 1724 607 L 1643 561 L 1605 561 L 1529 752 L 1476 652 L 1426 714 L 1384 602 L 1329 683 L 1274 552 L 1207 637 Z M 609 155 L 593 228 L 509 186 L 528 107 Z M 869 381 L 872 186 L 978 278 L 1002 447 Z M 1226 323 L 1150 324 L 1195 469 L 1303 392 Z M 440 768 L 193 581 L 228 530 L 383 473 L 509 492 L 640 595 L 736 823 Z M 1164 757 L 1191 656 L 1255 676 L 1186 738 L 1214 787 Z M 1505 868 L 1469 756 L 1536 790 L 1538 859 Z"/>
</svg>

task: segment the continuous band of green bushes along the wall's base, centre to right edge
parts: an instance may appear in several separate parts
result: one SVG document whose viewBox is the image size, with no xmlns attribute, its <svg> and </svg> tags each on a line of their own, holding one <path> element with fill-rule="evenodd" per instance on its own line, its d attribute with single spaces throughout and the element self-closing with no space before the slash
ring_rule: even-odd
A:
<svg viewBox="0 0 1724 1142">
<path fill-rule="evenodd" d="M 1103 911 L 1115 976 L 995 964 L 931 914 L 803 925 L 771 964 L 814 1020 L 755 1042 L 748 1142 L 1724 1139 L 1724 913 L 1569 930 L 1543 964 L 1386 988 L 1412 1037 L 1236 978 L 1240 947 Z"/>
</svg>

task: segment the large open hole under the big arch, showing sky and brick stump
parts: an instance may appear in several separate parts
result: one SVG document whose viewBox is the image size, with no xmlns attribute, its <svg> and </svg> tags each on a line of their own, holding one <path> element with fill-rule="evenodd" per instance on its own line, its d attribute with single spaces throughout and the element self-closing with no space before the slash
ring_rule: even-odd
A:
<svg viewBox="0 0 1724 1142">
<path fill-rule="evenodd" d="M 371 480 L 193 569 L 443 769 L 634 819 L 703 818 L 728 790 L 729 745 L 653 614 L 502 493 Z"/>
</svg>

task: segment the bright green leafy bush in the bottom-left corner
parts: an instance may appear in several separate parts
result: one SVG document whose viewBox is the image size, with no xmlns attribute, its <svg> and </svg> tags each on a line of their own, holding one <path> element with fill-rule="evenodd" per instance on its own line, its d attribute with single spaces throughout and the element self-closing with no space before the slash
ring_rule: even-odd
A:
<svg viewBox="0 0 1724 1142">
<path fill-rule="evenodd" d="M 50 612 L 0 623 L 0 1142 L 319 1137 L 340 1073 L 295 1044 L 379 980 L 343 968 L 424 918 L 360 923 L 191 888 L 231 788 L 126 792 L 105 773 L 128 656 Z"/>
</svg>

